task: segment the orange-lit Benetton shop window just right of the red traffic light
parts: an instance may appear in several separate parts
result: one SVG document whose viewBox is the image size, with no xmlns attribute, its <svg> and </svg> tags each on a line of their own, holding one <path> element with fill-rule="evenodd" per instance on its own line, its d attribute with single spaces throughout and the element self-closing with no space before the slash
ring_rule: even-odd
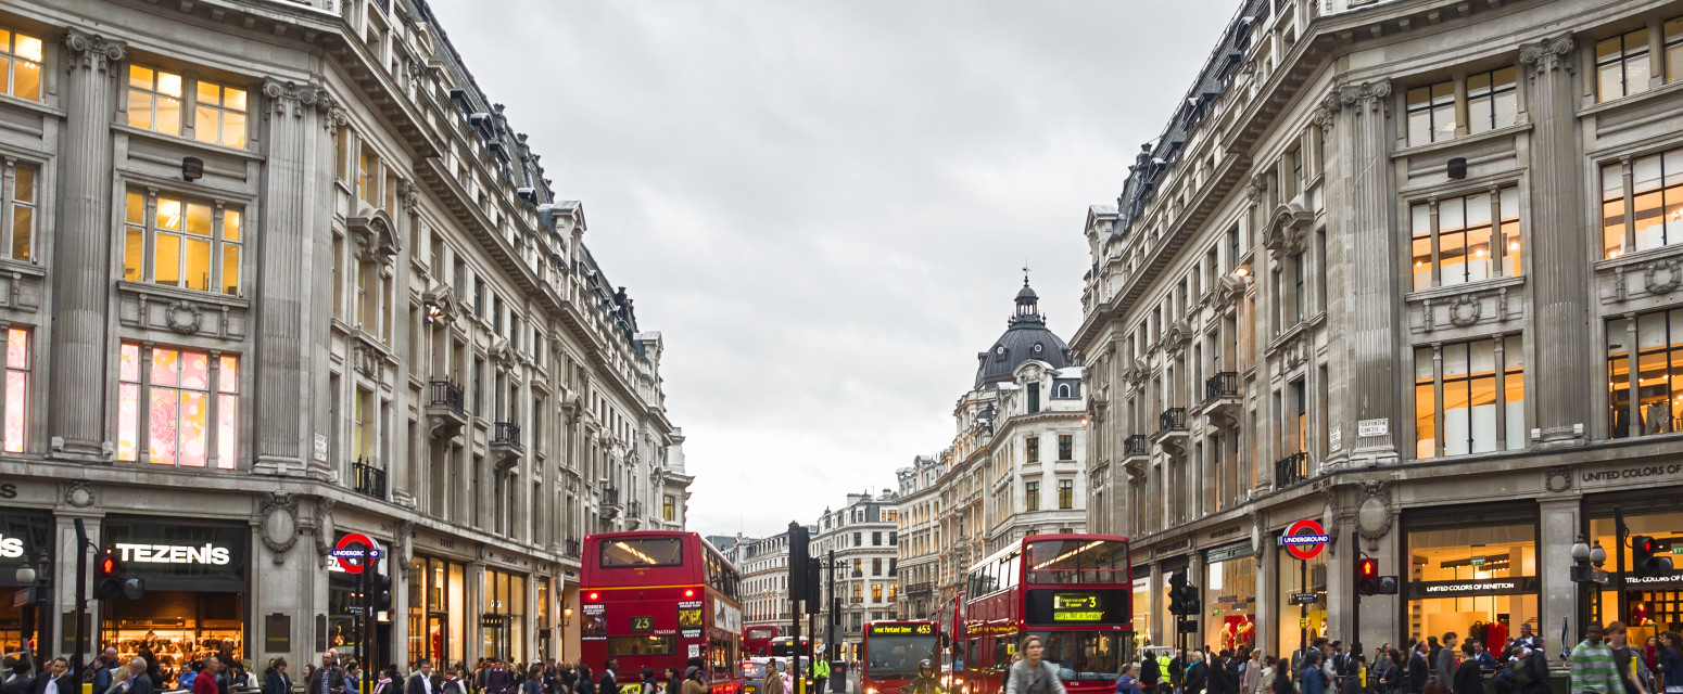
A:
<svg viewBox="0 0 1683 694">
<path fill-rule="evenodd" d="M 1537 623 L 1537 526 L 1409 533 L 1409 635 L 1503 644 Z"/>
</svg>

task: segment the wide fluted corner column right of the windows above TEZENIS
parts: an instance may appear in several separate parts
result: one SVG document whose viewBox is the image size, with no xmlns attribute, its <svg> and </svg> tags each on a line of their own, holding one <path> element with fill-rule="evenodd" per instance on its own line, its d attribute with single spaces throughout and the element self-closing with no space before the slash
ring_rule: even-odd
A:
<svg viewBox="0 0 1683 694">
<path fill-rule="evenodd" d="M 327 89 L 315 84 L 269 81 L 263 86 L 268 121 L 268 163 L 264 180 L 263 227 L 257 235 L 257 392 L 259 417 L 254 469 L 266 474 L 305 474 L 327 479 L 328 460 L 313 455 L 313 432 L 308 403 L 311 344 L 306 341 L 305 314 L 313 292 L 305 282 L 311 244 L 313 210 L 328 207 L 311 171 L 333 171 L 320 163 L 320 143 L 332 138 L 345 121 Z M 316 133 L 321 129 L 321 134 Z M 323 139 L 316 139 L 316 138 Z M 328 173 L 332 175 L 332 173 Z M 325 375 L 321 376 L 327 378 Z"/>
</svg>

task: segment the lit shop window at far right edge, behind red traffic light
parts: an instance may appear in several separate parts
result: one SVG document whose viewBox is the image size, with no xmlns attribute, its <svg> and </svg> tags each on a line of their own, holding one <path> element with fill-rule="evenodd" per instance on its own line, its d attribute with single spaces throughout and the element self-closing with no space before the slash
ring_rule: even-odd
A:
<svg viewBox="0 0 1683 694">
<path fill-rule="evenodd" d="M 1611 516 L 1611 514 L 1609 514 Z M 1626 511 L 1624 526 L 1631 536 L 1649 536 L 1659 543 L 1661 556 L 1671 556 L 1675 565 L 1683 565 L 1683 511 L 1636 514 Z M 1601 595 L 1590 602 L 1590 613 L 1595 620 L 1607 623 L 1622 620 L 1629 625 L 1631 642 L 1644 644 L 1649 637 L 1683 628 L 1683 578 L 1636 578 L 1631 571 L 1633 553 L 1626 546 L 1616 549 L 1612 518 L 1592 518 L 1589 529 L 1594 541 L 1607 551 L 1609 581 Z M 1617 578 L 1617 558 L 1614 551 L 1624 551 L 1626 591 L 1629 593 L 1629 613 L 1619 615 L 1619 591 L 1614 590 L 1612 578 Z"/>
</svg>

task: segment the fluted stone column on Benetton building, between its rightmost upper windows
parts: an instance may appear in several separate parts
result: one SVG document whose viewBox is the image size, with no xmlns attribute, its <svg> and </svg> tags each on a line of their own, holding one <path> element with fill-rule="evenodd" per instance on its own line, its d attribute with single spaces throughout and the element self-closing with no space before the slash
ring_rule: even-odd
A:
<svg viewBox="0 0 1683 694">
<path fill-rule="evenodd" d="M 1584 254 L 1584 192 L 1579 185 L 1577 94 L 1572 35 L 1525 45 L 1526 104 L 1532 131 L 1532 286 L 1533 334 L 1550 348 L 1530 361 L 1538 445 L 1580 445 L 1589 439 L 1589 259 Z"/>
</svg>

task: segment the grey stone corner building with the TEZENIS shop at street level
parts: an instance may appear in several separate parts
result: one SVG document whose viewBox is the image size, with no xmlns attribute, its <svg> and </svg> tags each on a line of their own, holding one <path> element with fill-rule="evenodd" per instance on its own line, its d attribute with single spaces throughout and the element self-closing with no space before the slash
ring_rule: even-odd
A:
<svg viewBox="0 0 1683 694">
<path fill-rule="evenodd" d="M 50 561 L 49 650 L 84 521 L 148 583 L 93 607 L 125 654 L 353 650 L 365 533 L 372 664 L 576 655 L 582 538 L 683 528 L 665 344 L 426 3 L 5 0 L 0 37 L 0 585 Z"/>
</svg>

